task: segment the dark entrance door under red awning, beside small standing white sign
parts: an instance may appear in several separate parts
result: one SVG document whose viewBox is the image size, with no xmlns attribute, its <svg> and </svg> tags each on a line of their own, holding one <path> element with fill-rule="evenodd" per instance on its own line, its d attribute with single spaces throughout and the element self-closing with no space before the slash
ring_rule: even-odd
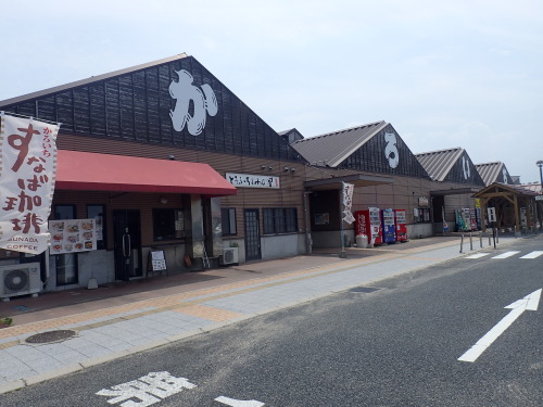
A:
<svg viewBox="0 0 543 407">
<path fill-rule="evenodd" d="M 141 237 L 139 211 L 113 211 L 115 279 L 141 277 Z"/>
</svg>

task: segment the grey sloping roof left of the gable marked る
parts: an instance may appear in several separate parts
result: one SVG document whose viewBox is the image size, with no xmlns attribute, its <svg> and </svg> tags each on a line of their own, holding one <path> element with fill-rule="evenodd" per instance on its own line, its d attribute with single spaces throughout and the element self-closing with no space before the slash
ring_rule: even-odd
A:
<svg viewBox="0 0 543 407">
<path fill-rule="evenodd" d="M 310 164 L 337 167 L 388 124 L 383 120 L 293 142 Z"/>
</svg>

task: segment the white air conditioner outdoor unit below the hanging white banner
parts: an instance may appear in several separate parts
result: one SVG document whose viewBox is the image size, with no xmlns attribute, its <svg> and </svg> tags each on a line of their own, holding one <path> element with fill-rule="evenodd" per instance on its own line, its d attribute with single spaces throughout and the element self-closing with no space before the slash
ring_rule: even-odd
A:
<svg viewBox="0 0 543 407">
<path fill-rule="evenodd" d="M 2 301 L 10 301 L 11 296 L 16 295 L 37 296 L 41 288 L 39 263 L 0 267 L 0 298 Z"/>
</svg>

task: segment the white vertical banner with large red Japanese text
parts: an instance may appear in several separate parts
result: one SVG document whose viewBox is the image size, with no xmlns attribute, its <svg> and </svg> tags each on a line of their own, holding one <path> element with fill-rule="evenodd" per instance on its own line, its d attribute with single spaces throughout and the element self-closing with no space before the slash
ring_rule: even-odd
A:
<svg viewBox="0 0 543 407">
<path fill-rule="evenodd" d="M 59 125 L 0 114 L 0 247 L 47 250 Z"/>
</svg>

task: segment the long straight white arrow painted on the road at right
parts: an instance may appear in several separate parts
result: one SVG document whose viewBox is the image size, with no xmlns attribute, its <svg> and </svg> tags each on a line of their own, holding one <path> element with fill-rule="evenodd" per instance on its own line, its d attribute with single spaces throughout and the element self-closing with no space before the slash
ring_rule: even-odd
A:
<svg viewBox="0 0 543 407">
<path fill-rule="evenodd" d="M 476 361 L 492 343 L 512 326 L 515 320 L 522 315 L 525 310 L 538 310 L 540 303 L 541 289 L 535 290 L 533 293 L 525 296 L 521 300 L 507 305 L 505 308 L 512 309 L 500 322 L 497 322 L 484 336 L 471 346 L 458 360 L 460 361 Z"/>
</svg>

